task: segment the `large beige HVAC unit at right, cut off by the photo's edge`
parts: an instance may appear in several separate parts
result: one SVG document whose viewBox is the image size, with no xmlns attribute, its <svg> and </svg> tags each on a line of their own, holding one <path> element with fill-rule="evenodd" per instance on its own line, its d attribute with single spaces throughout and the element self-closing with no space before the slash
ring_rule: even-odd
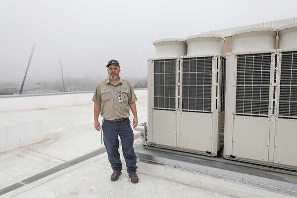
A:
<svg viewBox="0 0 297 198">
<path fill-rule="evenodd" d="M 286 40 L 282 31 L 280 46 Z M 297 50 L 276 51 L 275 37 L 271 28 L 232 36 L 233 52 L 227 54 L 224 157 L 297 169 Z M 296 38 L 289 40 L 296 44 Z"/>
</svg>

